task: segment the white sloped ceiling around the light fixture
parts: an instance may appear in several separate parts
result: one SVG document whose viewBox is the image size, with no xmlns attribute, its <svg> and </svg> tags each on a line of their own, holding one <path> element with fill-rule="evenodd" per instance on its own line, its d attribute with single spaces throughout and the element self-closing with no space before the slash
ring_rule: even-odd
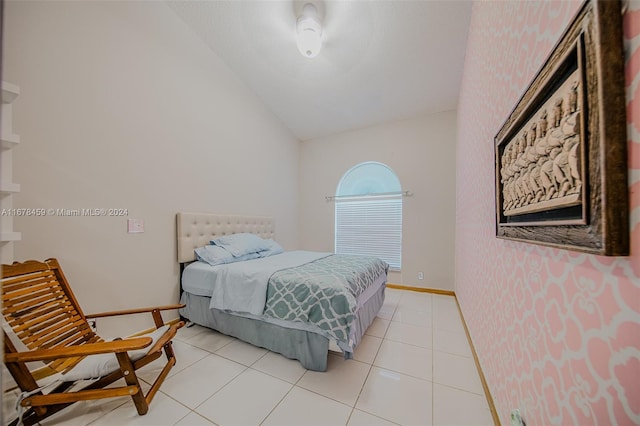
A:
<svg viewBox="0 0 640 426">
<path fill-rule="evenodd" d="M 320 54 L 296 47 L 297 0 L 169 1 L 300 140 L 457 106 L 472 3 L 312 1 Z"/>
</svg>

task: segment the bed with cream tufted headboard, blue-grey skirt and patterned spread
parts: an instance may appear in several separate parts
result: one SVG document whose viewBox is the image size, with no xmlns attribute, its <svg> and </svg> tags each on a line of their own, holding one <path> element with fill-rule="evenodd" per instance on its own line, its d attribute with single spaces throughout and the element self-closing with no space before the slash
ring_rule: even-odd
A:
<svg viewBox="0 0 640 426">
<path fill-rule="evenodd" d="M 368 262 L 305 251 L 219 266 L 196 259 L 196 249 L 225 236 L 253 234 L 273 240 L 275 227 L 270 217 L 180 212 L 176 228 L 180 301 L 185 304 L 180 315 L 195 324 L 297 359 L 306 369 L 326 371 L 330 348 L 351 358 L 384 303 L 388 265 L 379 259 Z M 351 265 L 354 261 L 357 262 Z M 348 277 L 351 296 L 345 290 L 333 290 L 333 285 L 322 285 L 338 279 L 323 268 L 341 270 Z M 244 275 L 231 275 L 237 273 Z M 328 274 L 332 277 L 328 278 Z M 268 279 L 263 284 L 257 275 Z M 316 278 L 320 284 L 313 284 Z M 304 293 L 303 283 L 307 282 L 312 286 Z M 332 289 L 326 290 L 327 287 Z"/>
</svg>

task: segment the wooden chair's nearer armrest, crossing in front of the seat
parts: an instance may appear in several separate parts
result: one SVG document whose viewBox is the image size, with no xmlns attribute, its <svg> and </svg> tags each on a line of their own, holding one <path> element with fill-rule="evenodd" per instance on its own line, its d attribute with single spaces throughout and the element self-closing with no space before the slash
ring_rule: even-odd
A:
<svg viewBox="0 0 640 426">
<path fill-rule="evenodd" d="M 4 354 L 5 362 L 46 361 L 56 358 L 70 358 L 76 356 L 95 355 L 104 353 L 126 352 L 146 348 L 153 342 L 151 337 L 136 337 L 133 339 L 113 340 L 110 342 L 86 343 L 78 346 L 63 348 L 37 349 L 29 352 L 14 352 Z"/>
</svg>

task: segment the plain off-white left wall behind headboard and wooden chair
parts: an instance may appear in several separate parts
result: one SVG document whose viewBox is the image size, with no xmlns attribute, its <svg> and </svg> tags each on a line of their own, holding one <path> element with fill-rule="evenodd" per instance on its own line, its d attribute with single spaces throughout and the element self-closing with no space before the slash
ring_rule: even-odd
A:
<svg viewBox="0 0 640 426">
<path fill-rule="evenodd" d="M 18 218 L 16 260 L 57 257 L 97 312 L 177 302 L 181 210 L 272 215 L 278 241 L 297 248 L 299 142 L 164 3 L 7 1 L 4 12 L 3 78 L 21 89 L 14 207 L 126 208 L 145 225 Z M 150 325 L 98 323 L 106 335 Z"/>
</svg>

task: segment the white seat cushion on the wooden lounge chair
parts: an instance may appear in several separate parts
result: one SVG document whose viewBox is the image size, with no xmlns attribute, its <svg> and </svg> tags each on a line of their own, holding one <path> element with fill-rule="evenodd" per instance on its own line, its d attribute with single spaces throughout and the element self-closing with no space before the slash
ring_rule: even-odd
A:
<svg viewBox="0 0 640 426">
<path fill-rule="evenodd" d="M 151 337 L 152 342 L 149 346 L 142 349 L 129 351 L 129 357 L 132 361 L 137 361 L 149 353 L 149 349 L 155 345 L 156 341 L 166 333 L 169 329 L 168 325 L 162 326 L 152 333 L 136 337 Z M 76 364 L 69 372 L 62 374 L 62 380 L 65 382 L 75 382 L 76 380 L 95 379 L 113 373 L 120 368 L 118 358 L 115 353 L 89 355 Z"/>
</svg>

